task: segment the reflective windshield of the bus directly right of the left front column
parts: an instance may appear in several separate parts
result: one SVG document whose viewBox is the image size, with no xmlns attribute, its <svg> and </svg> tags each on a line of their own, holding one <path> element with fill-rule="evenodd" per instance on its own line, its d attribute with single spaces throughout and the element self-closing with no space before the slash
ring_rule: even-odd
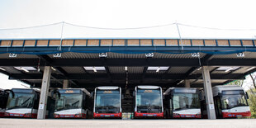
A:
<svg viewBox="0 0 256 128">
<path fill-rule="evenodd" d="M 82 94 L 60 94 L 56 98 L 55 111 L 82 107 Z"/>
</svg>

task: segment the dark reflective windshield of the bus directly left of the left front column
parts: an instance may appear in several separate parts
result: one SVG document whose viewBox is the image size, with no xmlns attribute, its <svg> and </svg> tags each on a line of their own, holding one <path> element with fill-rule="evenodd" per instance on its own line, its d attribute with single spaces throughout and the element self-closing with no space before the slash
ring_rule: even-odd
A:
<svg viewBox="0 0 256 128">
<path fill-rule="evenodd" d="M 12 93 L 10 93 L 7 101 L 7 109 L 31 108 L 34 96 L 35 94 L 32 93 L 15 93 L 15 97 L 12 98 Z"/>
</svg>

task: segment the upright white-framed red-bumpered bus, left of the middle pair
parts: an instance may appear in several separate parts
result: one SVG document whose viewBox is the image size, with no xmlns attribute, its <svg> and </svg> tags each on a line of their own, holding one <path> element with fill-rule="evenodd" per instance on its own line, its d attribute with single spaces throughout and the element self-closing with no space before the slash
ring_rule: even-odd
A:
<svg viewBox="0 0 256 128">
<path fill-rule="evenodd" d="M 121 88 L 97 87 L 94 94 L 94 118 L 120 118 Z"/>
</svg>

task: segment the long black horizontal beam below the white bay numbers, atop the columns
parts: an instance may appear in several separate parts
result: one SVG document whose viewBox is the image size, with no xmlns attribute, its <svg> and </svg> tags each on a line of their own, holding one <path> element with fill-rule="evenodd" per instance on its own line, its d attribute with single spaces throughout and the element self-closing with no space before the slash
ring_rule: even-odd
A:
<svg viewBox="0 0 256 128">
<path fill-rule="evenodd" d="M 40 60 L 40 64 L 44 60 Z M 255 66 L 256 59 L 211 59 L 208 66 Z M 198 59 L 107 59 L 102 63 L 101 59 L 52 59 L 50 64 L 60 66 L 172 66 L 194 67 L 199 66 Z M 204 64 L 202 63 L 201 66 Z M 38 66 L 38 59 L 0 59 L 0 66 Z M 196 68 L 195 68 L 196 67 Z"/>
</svg>

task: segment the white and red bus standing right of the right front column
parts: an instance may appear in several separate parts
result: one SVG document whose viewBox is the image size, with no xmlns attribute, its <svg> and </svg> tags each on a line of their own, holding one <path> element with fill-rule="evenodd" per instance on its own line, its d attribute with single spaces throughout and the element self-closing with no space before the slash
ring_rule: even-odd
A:
<svg viewBox="0 0 256 128">
<path fill-rule="evenodd" d="M 234 118 L 251 116 L 249 98 L 244 88 L 237 85 L 220 85 L 212 88 L 216 116 L 218 118 Z"/>
</svg>

